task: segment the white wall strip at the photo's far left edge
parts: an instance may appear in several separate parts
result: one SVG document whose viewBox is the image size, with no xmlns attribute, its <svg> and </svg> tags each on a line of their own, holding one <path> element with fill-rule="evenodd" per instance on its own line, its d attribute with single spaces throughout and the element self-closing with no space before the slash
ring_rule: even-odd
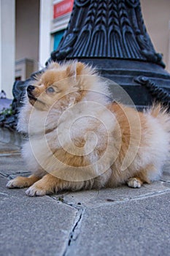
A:
<svg viewBox="0 0 170 256">
<path fill-rule="evenodd" d="M 0 1 L 0 90 L 12 99 L 15 81 L 15 0 Z"/>
</svg>

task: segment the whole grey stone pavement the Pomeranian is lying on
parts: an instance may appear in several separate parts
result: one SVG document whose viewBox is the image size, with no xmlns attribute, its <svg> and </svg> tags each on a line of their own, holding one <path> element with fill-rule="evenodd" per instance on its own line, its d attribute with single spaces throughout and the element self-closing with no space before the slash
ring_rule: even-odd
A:
<svg viewBox="0 0 170 256">
<path fill-rule="evenodd" d="M 0 143 L 0 255 L 170 255 L 169 167 L 141 189 L 28 197 L 5 187 L 29 173 L 20 148 Z"/>
</svg>

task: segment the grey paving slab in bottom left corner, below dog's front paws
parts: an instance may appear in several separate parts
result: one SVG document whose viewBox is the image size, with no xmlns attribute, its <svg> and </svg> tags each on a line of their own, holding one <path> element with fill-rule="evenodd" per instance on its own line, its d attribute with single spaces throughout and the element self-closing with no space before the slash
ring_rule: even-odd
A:
<svg viewBox="0 0 170 256">
<path fill-rule="evenodd" d="M 6 189 L 0 176 L 0 255 L 63 255 L 77 209 L 58 200 L 28 197 L 25 189 Z"/>
</svg>

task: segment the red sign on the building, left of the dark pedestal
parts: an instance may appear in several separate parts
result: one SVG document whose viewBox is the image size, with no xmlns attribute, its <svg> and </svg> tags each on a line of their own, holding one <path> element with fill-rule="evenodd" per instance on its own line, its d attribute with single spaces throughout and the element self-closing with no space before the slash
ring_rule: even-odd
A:
<svg viewBox="0 0 170 256">
<path fill-rule="evenodd" d="M 53 5 L 53 18 L 58 18 L 66 13 L 72 12 L 74 0 L 63 0 Z"/>
</svg>

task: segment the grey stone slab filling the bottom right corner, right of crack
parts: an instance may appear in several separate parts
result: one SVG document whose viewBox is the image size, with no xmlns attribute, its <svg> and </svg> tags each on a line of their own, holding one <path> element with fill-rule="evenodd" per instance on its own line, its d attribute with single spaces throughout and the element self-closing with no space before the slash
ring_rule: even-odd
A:
<svg viewBox="0 0 170 256">
<path fill-rule="evenodd" d="M 87 208 L 66 255 L 169 255 L 170 192 Z"/>
</svg>

